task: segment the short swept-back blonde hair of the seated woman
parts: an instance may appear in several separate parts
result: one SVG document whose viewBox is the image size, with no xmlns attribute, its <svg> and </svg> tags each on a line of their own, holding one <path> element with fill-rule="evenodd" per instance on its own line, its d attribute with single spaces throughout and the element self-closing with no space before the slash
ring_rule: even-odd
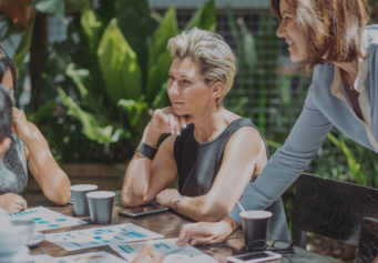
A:
<svg viewBox="0 0 378 263">
<path fill-rule="evenodd" d="M 216 99 L 216 107 L 221 108 L 236 73 L 235 55 L 224 39 L 219 34 L 193 28 L 170 39 L 167 49 L 173 59 L 190 59 L 198 63 L 200 74 L 204 77 L 207 85 L 217 81 L 223 83 L 221 94 Z"/>
</svg>

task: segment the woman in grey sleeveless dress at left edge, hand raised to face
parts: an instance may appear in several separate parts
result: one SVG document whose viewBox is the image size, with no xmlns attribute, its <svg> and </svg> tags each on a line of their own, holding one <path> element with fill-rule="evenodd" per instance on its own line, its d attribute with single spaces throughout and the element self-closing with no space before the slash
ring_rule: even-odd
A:
<svg viewBox="0 0 378 263">
<path fill-rule="evenodd" d="M 1 48 L 0 83 L 16 97 L 17 69 Z M 11 144 L 0 166 L 0 206 L 8 213 L 27 209 L 21 194 L 27 186 L 28 168 L 49 200 L 57 205 L 67 204 L 71 199 L 71 183 L 53 159 L 48 142 L 23 111 L 14 107 L 11 111 L 13 125 L 8 130 Z"/>
</svg>

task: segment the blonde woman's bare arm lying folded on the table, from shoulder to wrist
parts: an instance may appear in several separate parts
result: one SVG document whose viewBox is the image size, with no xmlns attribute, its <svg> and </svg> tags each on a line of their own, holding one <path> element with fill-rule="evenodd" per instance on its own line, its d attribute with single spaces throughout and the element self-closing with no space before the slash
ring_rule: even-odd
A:
<svg viewBox="0 0 378 263">
<path fill-rule="evenodd" d="M 265 144 L 258 131 L 249 127 L 238 130 L 227 142 L 223 164 L 211 191 L 205 195 L 182 199 L 177 212 L 196 221 L 222 220 L 235 208 L 256 165 L 265 165 L 266 162 Z M 156 202 L 162 203 L 159 196 Z M 174 196 L 162 204 L 173 209 Z"/>
</svg>

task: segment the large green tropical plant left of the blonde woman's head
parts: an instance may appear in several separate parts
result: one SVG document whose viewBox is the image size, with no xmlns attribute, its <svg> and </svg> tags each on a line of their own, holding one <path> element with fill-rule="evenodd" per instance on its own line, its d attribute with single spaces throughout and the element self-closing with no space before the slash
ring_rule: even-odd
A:
<svg viewBox="0 0 378 263">
<path fill-rule="evenodd" d="M 64 161 L 71 161 L 65 156 L 72 143 L 78 145 L 75 155 L 92 149 L 98 151 L 92 161 L 106 154 L 109 161 L 124 161 L 125 149 L 136 146 L 152 110 L 170 103 L 166 83 L 172 59 L 166 44 L 181 32 L 175 7 L 160 17 L 146 0 L 100 0 L 96 9 L 86 2 L 68 27 L 68 40 L 52 44 L 45 55 L 41 81 L 45 98 L 40 98 L 43 107 L 30 119 L 39 127 L 65 131 L 65 135 L 48 132 Z M 193 27 L 215 30 L 213 0 L 183 30 Z M 49 92 L 53 94 L 47 95 Z M 55 110 L 61 105 L 67 111 Z M 91 153 L 83 156 L 91 161 Z"/>
</svg>

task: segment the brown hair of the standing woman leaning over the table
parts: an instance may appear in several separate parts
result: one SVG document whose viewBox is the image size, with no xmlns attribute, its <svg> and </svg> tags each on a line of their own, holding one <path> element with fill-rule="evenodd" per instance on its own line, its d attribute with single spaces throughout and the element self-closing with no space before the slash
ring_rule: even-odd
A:
<svg viewBox="0 0 378 263">
<path fill-rule="evenodd" d="M 362 32 L 369 21 L 366 0 L 270 0 L 273 14 L 282 21 L 279 1 L 287 1 L 297 11 L 298 27 L 308 42 L 308 57 L 303 61 L 307 69 L 366 57 L 362 47 Z"/>
</svg>

